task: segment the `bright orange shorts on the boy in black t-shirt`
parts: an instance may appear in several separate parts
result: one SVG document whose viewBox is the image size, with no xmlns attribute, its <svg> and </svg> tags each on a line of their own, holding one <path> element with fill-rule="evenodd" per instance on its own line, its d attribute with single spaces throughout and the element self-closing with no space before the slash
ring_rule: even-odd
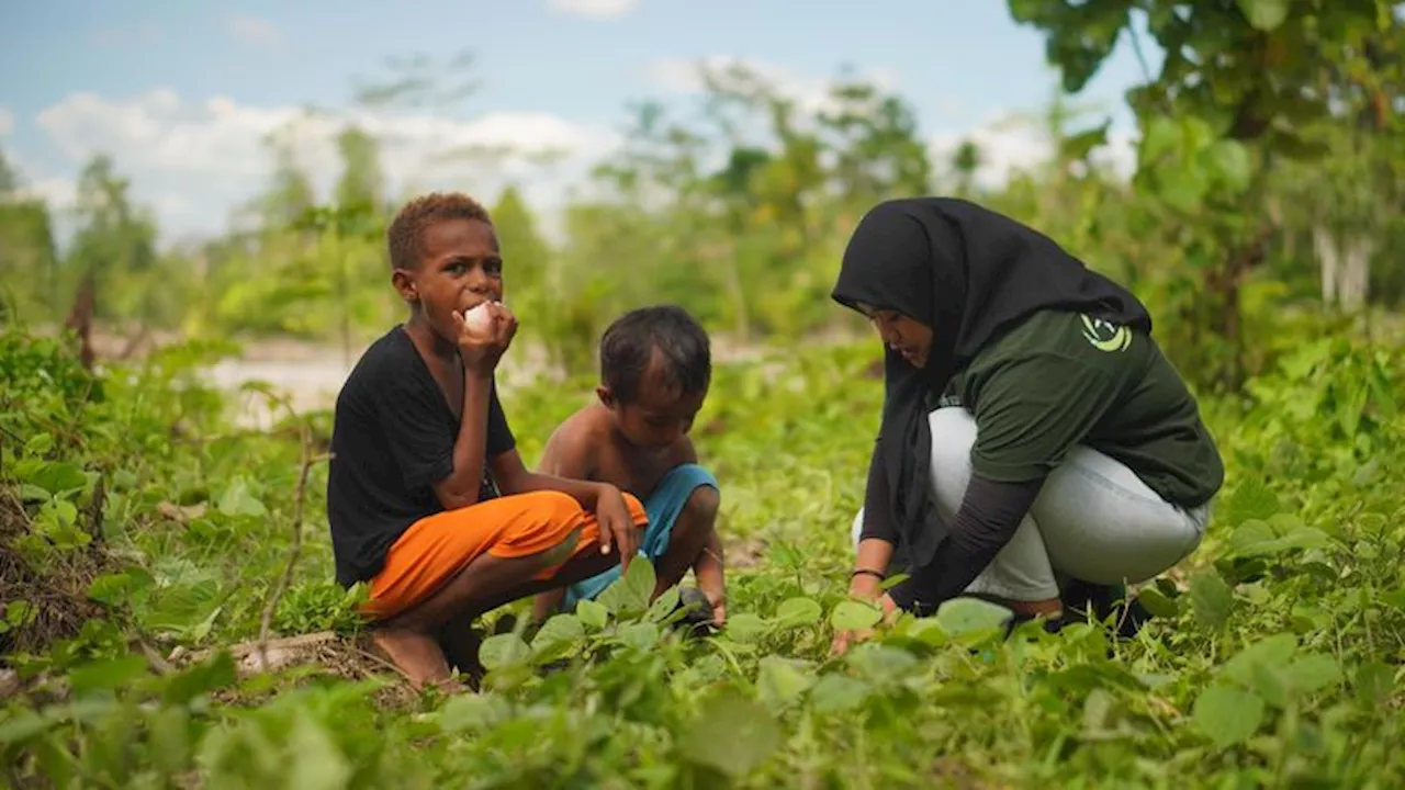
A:
<svg viewBox="0 0 1405 790">
<path fill-rule="evenodd" d="M 634 496 L 624 495 L 635 526 L 649 516 Z M 420 519 L 391 545 L 385 566 L 371 579 L 371 599 L 362 613 L 386 619 L 434 595 L 483 552 L 513 558 L 541 554 L 580 530 L 570 554 L 534 579 L 549 579 L 562 565 L 600 543 L 600 524 L 569 493 L 534 491 L 500 496 Z"/>
</svg>

